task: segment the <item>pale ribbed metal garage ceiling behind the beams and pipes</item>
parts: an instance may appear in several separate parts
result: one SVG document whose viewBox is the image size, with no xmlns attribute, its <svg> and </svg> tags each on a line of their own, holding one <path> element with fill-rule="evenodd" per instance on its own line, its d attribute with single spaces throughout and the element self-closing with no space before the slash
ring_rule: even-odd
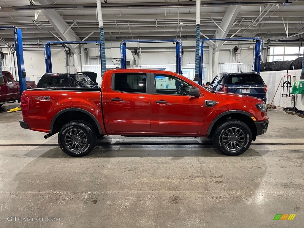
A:
<svg viewBox="0 0 304 228">
<path fill-rule="evenodd" d="M 1 26 L 17 26 L 21 28 L 22 37 L 25 41 L 38 42 L 38 40 L 40 40 L 41 42 L 44 40 L 55 40 L 55 38 L 53 38 L 45 28 L 39 25 L 39 23 L 33 22 L 35 12 L 37 14 L 40 10 L 15 10 L 12 8 L 13 6 L 29 5 L 30 2 L 39 5 L 37 0 L 0 1 Z M 84 3 L 83 0 L 48 0 L 48 2 L 54 4 L 54 6 L 58 4 L 71 4 L 71 7 Z M 106 41 L 175 39 L 177 36 L 180 36 L 180 32 L 182 40 L 195 40 L 195 6 L 193 5 L 184 5 L 181 7 L 150 6 L 144 8 L 125 6 L 126 3 L 135 2 L 144 2 L 147 4 L 147 2 L 143 0 L 108 0 L 107 2 L 108 3 L 103 3 L 103 5 L 119 3 L 120 7 L 103 8 L 102 13 Z M 188 0 L 159 0 L 150 2 L 189 3 Z M 202 4 L 203 2 L 204 1 L 202 1 Z M 243 4 L 234 20 L 234 25 L 227 36 L 230 37 L 237 32 L 234 37 L 260 36 L 264 37 L 264 40 L 276 40 L 278 38 L 286 37 L 287 29 L 289 36 L 304 32 L 304 0 L 294 0 L 292 4 L 285 6 L 277 5 L 276 3 L 273 3 L 273 1 L 269 1 L 269 4 L 267 4 L 268 1 L 264 2 L 266 2 L 266 4 Z M 87 0 L 85 3 L 94 4 L 95 0 Z M 209 38 L 212 38 L 218 29 L 217 25 L 220 24 L 228 7 L 229 5 L 202 5 L 201 32 Z M 81 40 L 94 30 L 98 31 L 95 8 L 56 9 L 56 11 L 68 25 L 72 25 L 73 22 L 77 20 L 72 26 L 72 30 Z M 59 36 L 47 18 L 43 15 L 43 10 L 39 12 L 37 20 L 48 30 Z M 283 20 L 285 22 L 286 30 Z M 179 22 L 183 23 L 182 29 Z M 302 35 L 293 36 L 290 39 L 295 40 Z M 92 33 L 88 40 L 95 40 L 97 36 L 99 36 L 97 32 Z M 8 42 L 13 41 L 12 34 L 7 33 L 7 30 L 0 30 L 0 37 Z"/>
</svg>

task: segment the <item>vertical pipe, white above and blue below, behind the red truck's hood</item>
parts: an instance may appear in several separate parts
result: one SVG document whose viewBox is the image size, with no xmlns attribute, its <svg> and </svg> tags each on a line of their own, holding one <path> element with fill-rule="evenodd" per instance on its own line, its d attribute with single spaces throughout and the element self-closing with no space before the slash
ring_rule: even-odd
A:
<svg viewBox="0 0 304 228">
<path fill-rule="evenodd" d="M 196 25 L 195 25 L 195 73 L 193 81 L 199 81 L 199 56 L 200 56 L 200 20 L 201 20 L 201 0 L 196 0 Z"/>
</svg>

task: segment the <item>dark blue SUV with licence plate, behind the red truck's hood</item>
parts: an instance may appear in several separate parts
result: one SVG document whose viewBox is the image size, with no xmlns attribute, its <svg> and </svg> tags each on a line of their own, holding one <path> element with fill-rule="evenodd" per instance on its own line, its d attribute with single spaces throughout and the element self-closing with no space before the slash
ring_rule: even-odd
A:
<svg viewBox="0 0 304 228">
<path fill-rule="evenodd" d="M 208 89 L 261 98 L 265 104 L 267 101 L 267 85 L 257 72 L 220 73 L 212 80 Z"/>
</svg>

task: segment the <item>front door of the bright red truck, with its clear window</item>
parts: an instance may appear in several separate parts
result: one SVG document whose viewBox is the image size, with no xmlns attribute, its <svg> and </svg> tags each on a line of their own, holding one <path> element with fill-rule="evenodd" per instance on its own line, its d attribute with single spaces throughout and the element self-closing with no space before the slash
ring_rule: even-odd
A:
<svg viewBox="0 0 304 228">
<path fill-rule="evenodd" d="M 151 132 L 199 133 L 202 130 L 204 98 L 188 95 L 190 85 L 177 77 L 151 74 Z"/>
</svg>

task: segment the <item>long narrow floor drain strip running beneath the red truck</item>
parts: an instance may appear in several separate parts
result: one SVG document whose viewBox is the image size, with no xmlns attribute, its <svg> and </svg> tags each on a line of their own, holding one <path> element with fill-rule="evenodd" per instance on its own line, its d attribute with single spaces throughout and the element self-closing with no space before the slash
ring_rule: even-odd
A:
<svg viewBox="0 0 304 228">
<path fill-rule="evenodd" d="M 213 143 L 97 143 L 97 146 L 213 146 Z M 304 146 L 304 143 L 251 143 L 252 146 Z M 0 147 L 57 147 L 58 144 L 0 144 Z"/>
</svg>

